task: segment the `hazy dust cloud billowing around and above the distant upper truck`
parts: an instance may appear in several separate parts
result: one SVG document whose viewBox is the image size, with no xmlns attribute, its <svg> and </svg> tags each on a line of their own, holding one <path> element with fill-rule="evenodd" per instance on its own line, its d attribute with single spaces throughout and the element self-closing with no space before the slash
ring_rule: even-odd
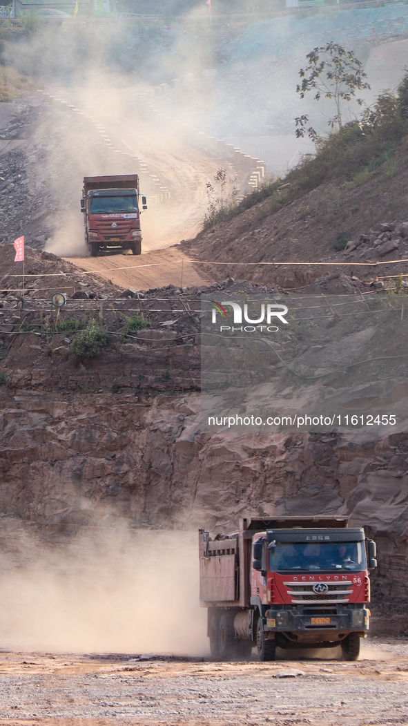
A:
<svg viewBox="0 0 408 726">
<path fill-rule="evenodd" d="M 38 89 L 45 92 L 38 99 L 48 105 L 42 107 L 33 139 L 41 150 L 36 179 L 47 189 L 52 213 L 47 250 L 88 254 L 79 206 L 83 176 L 139 174 L 148 199 L 142 216 L 144 251 L 174 245 L 199 231 L 208 206 L 205 184 L 220 163 L 200 147 L 197 132 L 188 131 L 194 123 L 186 106 L 192 103 L 209 113 L 211 89 L 202 82 L 197 88 L 181 83 L 165 99 L 172 107 L 169 116 L 155 107 L 156 99 L 144 96 L 169 76 L 183 78 L 212 64 L 192 34 L 187 33 L 187 41 L 184 35 L 123 25 L 101 25 L 96 33 L 94 27 L 68 23 L 42 25 L 18 46 L 9 44 L 8 61 L 29 75 L 36 69 Z"/>
</svg>

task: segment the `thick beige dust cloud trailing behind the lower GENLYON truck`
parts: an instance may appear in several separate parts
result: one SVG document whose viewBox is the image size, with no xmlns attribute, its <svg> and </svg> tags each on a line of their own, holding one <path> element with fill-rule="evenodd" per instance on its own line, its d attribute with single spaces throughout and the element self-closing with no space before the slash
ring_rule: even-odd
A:
<svg viewBox="0 0 408 726">
<path fill-rule="evenodd" d="M 205 655 L 197 534 L 86 528 L 2 555 L 0 643 L 52 652 Z"/>
</svg>

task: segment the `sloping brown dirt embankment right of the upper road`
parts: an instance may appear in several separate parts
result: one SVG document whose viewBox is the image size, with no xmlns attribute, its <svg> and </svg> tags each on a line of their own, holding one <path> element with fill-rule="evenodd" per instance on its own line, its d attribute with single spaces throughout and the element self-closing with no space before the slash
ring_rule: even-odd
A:
<svg viewBox="0 0 408 726">
<path fill-rule="evenodd" d="M 349 277 L 369 282 L 378 276 L 406 274 L 408 263 L 391 263 L 408 257 L 408 240 L 383 255 L 372 248 L 368 257 L 361 255 L 363 249 L 348 256 L 335 252 L 333 247 L 339 237 L 354 240 L 359 234 L 379 231 L 384 222 L 406 221 L 405 153 L 401 153 L 399 165 L 391 178 L 378 171 L 362 184 L 338 180 L 283 205 L 275 213 L 271 213 L 266 199 L 231 221 L 183 242 L 181 248 L 197 260 L 212 263 L 216 279 L 231 276 L 284 288 L 309 285 L 317 277 L 330 274 L 332 265 Z M 367 253 L 367 249 L 364 251 Z"/>
</svg>

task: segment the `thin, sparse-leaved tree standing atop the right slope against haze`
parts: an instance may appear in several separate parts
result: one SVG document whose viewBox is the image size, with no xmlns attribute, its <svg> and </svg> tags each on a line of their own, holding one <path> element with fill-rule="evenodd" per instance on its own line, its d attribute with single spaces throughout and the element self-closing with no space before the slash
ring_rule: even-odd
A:
<svg viewBox="0 0 408 726">
<path fill-rule="evenodd" d="M 329 119 L 329 126 L 338 129 L 343 126 L 341 109 L 344 101 L 351 101 L 356 96 L 356 91 L 370 89 L 369 83 L 364 81 L 367 73 L 364 73 L 363 65 L 354 55 L 353 51 L 348 51 L 338 43 L 327 43 L 325 46 L 319 46 L 311 50 L 306 55 L 309 65 L 301 68 L 299 76 L 301 83 L 296 86 L 296 91 L 301 94 L 301 98 L 305 97 L 308 91 L 314 92 L 314 99 L 319 101 L 322 97 L 333 99 L 335 102 L 335 115 Z M 364 101 L 362 98 L 356 99 L 361 106 Z M 310 126 L 307 115 L 301 115 L 295 118 L 296 137 L 303 137 L 307 131 L 309 138 L 313 141 L 317 139 L 317 133 Z"/>
</svg>

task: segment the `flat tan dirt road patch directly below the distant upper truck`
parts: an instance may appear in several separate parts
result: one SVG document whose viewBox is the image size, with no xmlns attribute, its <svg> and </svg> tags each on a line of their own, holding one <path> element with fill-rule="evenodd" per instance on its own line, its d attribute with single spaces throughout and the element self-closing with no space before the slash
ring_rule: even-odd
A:
<svg viewBox="0 0 408 726">
<path fill-rule="evenodd" d="M 65 257 L 85 270 L 98 272 L 121 287 L 148 290 L 150 287 L 211 285 L 202 265 L 194 265 L 179 248 L 153 250 L 141 256 Z"/>
</svg>

